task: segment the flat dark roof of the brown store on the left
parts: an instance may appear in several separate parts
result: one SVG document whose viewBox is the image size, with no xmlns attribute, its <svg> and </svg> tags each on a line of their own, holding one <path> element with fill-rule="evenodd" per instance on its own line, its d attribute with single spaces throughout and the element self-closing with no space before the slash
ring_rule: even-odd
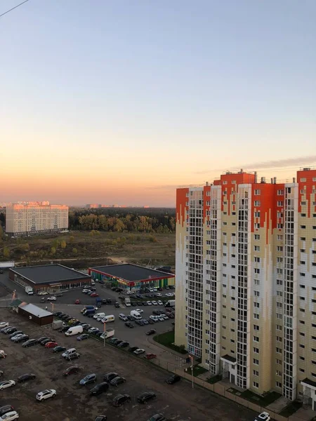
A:
<svg viewBox="0 0 316 421">
<path fill-rule="evenodd" d="M 33 283 L 53 283 L 72 281 L 72 279 L 90 279 L 88 274 L 62 265 L 14 267 L 10 270 Z"/>
</svg>

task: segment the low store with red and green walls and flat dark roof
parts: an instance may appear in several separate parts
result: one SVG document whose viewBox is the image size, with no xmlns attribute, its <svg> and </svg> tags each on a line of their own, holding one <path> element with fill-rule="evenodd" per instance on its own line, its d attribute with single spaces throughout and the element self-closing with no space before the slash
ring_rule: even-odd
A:
<svg viewBox="0 0 316 421">
<path fill-rule="evenodd" d="M 90 267 L 88 273 L 96 281 L 114 281 L 124 290 L 138 291 L 141 288 L 163 288 L 174 285 L 174 274 L 160 272 L 148 267 L 124 263 Z"/>
</svg>

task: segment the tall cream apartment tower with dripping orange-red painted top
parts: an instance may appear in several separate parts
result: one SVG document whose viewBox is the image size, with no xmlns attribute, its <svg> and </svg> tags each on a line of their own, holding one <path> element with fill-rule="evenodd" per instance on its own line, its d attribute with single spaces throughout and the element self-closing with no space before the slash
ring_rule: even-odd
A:
<svg viewBox="0 0 316 421">
<path fill-rule="evenodd" d="M 177 345 L 211 374 L 316 410 L 316 169 L 177 189 Z"/>
</svg>

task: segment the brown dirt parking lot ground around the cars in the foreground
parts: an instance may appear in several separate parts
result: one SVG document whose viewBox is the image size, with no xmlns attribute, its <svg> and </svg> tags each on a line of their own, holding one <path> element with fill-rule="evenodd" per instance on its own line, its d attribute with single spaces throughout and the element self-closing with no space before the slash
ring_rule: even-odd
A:
<svg viewBox="0 0 316 421">
<path fill-rule="evenodd" d="M 0 369 L 4 370 L 3 380 L 16 380 L 24 373 L 34 373 L 35 380 L 0 392 L 1 406 L 13 405 L 20 413 L 20 420 L 34 421 L 93 421 L 98 414 L 106 414 L 108 420 L 138 421 L 147 420 L 155 413 L 163 413 L 168 420 L 177 421 L 250 421 L 255 414 L 196 387 L 192 390 L 189 382 L 181 380 L 176 385 L 166 385 L 168 373 L 151 366 L 139 358 L 121 353 L 119 349 L 103 345 L 92 339 L 78 342 L 76 338 L 66 338 L 62 333 L 40 328 L 18 314 L 0 309 L 0 320 L 29 334 L 29 338 L 49 335 L 65 347 L 76 347 L 81 357 L 68 363 L 60 354 L 53 354 L 51 349 L 41 345 L 22 348 L 14 344 L 7 335 L 0 333 L 0 349 L 8 354 L 0 360 Z M 78 364 L 81 373 L 63 377 L 62 370 Z M 87 387 L 79 387 L 79 380 L 88 373 L 97 373 L 98 380 L 103 374 L 114 371 L 126 377 L 126 383 L 119 387 L 110 387 L 105 394 L 89 396 Z M 1 380 L 2 380 L 1 379 Z M 44 389 L 56 389 L 55 399 L 37 402 L 36 394 Z M 140 405 L 136 396 L 141 392 L 153 391 L 157 399 L 150 404 Z M 132 401 L 121 408 L 112 406 L 112 399 L 120 393 L 130 394 Z"/>
</svg>

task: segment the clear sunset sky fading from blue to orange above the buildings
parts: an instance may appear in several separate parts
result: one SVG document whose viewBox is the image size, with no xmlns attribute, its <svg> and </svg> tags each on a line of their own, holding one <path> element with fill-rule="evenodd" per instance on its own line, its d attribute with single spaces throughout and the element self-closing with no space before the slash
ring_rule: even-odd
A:
<svg viewBox="0 0 316 421">
<path fill-rule="evenodd" d="M 0 18 L 0 202 L 175 206 L 226 170 L 292 178 L 316 163 L 315 14 L 29 0 Z"/>
</svg>

